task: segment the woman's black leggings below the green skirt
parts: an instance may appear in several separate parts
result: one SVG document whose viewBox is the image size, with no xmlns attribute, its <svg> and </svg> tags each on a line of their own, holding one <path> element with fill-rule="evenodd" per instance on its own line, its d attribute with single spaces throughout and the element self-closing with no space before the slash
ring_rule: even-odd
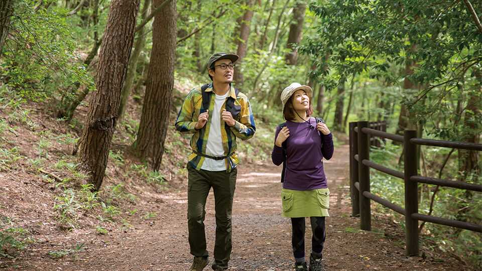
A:
<svg viewBox="0 0 482 271">
<path fill-rule="evenodd" d="M 325 217 L 312 216 L 310 217 L 311 230 L 313 236 L 311 237 L 311 250 L 316 253 L 323 251 L 323 244 L 325 242 Z M 305 257 L 305 218 L 292 217 L 292 235 L 291 243 L 293 244 L 293 255 L 295 258 Z"/>
</svg>

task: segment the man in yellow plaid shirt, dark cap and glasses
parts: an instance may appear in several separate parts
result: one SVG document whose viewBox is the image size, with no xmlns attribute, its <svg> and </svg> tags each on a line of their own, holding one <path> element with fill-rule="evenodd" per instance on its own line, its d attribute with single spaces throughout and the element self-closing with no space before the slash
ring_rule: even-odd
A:
<svg viewBox="0 0 482 271">
<path fill-rule="evenodd" d="M 189 246 L 194 255 L 189 270 L 208 263 L 204 216 L 211 187 L 216 211 L 213 270 L 226 270 L 231 254 L 231 211 L 238 163 L 236 138 L 248 140 L 256 127 L 248 97 L 231 87 L 238 56 L 213 54 L 207 63 L 212 83 L 192 89 L 176 120 L 176 129 L 192 133 L 188 169 Z"/>
</svg>

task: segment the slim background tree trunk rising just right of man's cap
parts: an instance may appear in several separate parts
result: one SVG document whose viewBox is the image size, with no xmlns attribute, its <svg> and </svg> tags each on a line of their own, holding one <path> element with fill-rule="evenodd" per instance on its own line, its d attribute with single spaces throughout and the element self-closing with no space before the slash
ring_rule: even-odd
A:
<svg viewBox="0 0 482 271">
<path fill-rule="evenodd" d="M 237 55 L 239 59 L 236 61 L 237 65 L 243 64 L 243 58 L 246 56 L 246 52 L 248 51 L 248 38 L 250 37 L 250 26 L 251 26 L 251 19 L 253 19 L 253 4 L 254 0 L 246 0 L 246 5 L 248 8 L 243 15 L 242 21 L 239 23 L 239 38 L 237 40 Z M 237 68 L 234 72 L 234 82 L 237 86 L 243 86 L 244 78 L 243 73 L 241 72 L 240 68 Z"/>
</svg>

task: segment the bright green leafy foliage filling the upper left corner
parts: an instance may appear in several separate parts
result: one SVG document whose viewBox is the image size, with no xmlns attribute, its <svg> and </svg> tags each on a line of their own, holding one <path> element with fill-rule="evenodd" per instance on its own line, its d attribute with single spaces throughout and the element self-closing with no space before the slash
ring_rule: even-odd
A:
<svg viewBox="0 0 482 271">
<path fill-rule="evenodd" d="M 76 95 L 77 89 L 69 89 L 75 82 L 92 88 L 93 81 L 76 52 L 67 10 L 49 5 L 34 11 L 37 4 L 15 3 L 0 76 L 26 100 L 69 100 Z"/>
</svg>

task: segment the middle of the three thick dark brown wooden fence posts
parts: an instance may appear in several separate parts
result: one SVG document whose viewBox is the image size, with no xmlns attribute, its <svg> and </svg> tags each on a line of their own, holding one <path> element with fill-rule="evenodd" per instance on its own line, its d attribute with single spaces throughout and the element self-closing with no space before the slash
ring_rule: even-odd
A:
<svg viewBox="0 0 482 271">
<path fill-rule="evenodd" d="M 362 128 L 368 127 L 368 121 L 358 121 L 358 181 L 360 184 L 360 228 L 372 230 L 372 216 L 370 199 L 363 195 L 364 191 L 370 192 L 370 168 L 362 162 L 370 159 L 370 137 L 362 132 Z"/>
</svg>

